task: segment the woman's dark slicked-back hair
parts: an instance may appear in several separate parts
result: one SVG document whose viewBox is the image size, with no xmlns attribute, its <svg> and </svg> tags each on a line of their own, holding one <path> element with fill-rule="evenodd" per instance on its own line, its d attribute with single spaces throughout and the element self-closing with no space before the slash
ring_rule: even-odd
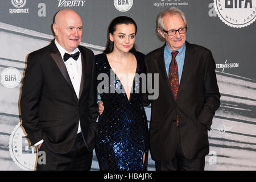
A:
<svg viewBox="0 0 256 182">
<path fill-rule="evenodd" d="M 108 28 L 108 42 L 106 44 L 106 49 L 105 49 L 104 53 L 110 53 L 114 50 L 114 42 L 112 42 L 109 39 L 109 34 L 114 35 L 114 31 L 117 30 L 118 24 L 134 24 L 135 35 L 137 33 L 137 24 L 134 22 L 134 20 L 132 18 L 127 17 L 127 16 L 118 16 L 117 18 L 114 18 Z M 135 47 L 133 46 L 133 48 L 130 49 L 130 52 L 134 53 L 135 51 L 136 51 Z"/>
</svg>

